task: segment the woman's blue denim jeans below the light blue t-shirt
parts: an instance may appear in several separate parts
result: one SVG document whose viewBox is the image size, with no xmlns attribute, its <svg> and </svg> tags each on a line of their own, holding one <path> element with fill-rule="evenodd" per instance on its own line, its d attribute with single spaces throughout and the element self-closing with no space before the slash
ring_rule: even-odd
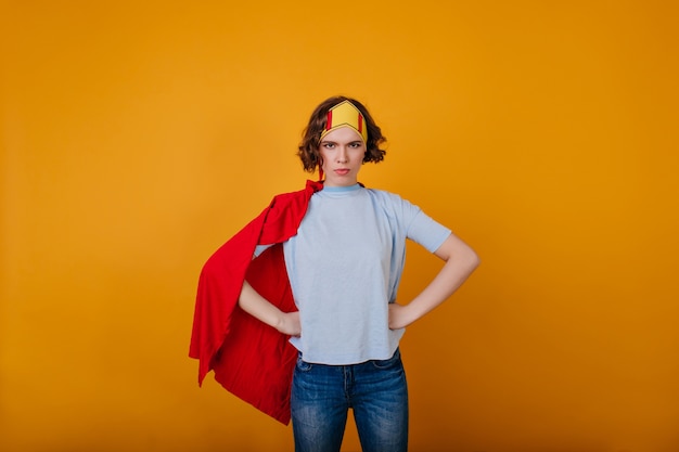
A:
<svg viewBox="0 0 679 452">
<path fill-rule="evenodd" d="M 363 452 L 408 450 L 408 387 L 400 352 L 324 365 L 297 358 L 291 398 L 296 452 L 338 452 L 349 409 Z"/>
</svg>

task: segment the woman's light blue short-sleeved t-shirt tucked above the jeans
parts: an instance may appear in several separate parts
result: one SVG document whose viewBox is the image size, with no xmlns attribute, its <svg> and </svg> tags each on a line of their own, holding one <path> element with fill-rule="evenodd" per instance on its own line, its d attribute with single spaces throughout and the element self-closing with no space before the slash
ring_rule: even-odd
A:
<svg viewBox="0 0 679 452">
<path fill-rule="evenodd" d="M 396 351 L 403 330 L 388 327 L 388 304 L 406 238 L 435 251 L 450 230 L 400 196 L 359 184 L 311 196 L 297 234 L 283 243 L 302 322 L 291 343 L 307 362 L 356 364 Z"/>
</svg>

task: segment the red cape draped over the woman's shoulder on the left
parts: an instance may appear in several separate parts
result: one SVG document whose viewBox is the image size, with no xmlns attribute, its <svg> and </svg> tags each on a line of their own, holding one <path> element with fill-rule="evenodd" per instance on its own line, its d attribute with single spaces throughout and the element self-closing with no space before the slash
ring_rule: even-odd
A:
<svg viewBox="0 0 679 452">
<path fill-rule="evenodd" d="M 284 312 L 296 311 L 282 243 L 297 233 L 320 182 L 276 196 L 205 262 L 198 280 L 189 356 L 200 360 L 198 385 L 212 370 L 227 390 L 283 424 L 297 350 L 290 337 L 244 312 L 238 300 L 247 282 Z M 257 259 L 257 245 L 277 244 Z"/>
</svg>

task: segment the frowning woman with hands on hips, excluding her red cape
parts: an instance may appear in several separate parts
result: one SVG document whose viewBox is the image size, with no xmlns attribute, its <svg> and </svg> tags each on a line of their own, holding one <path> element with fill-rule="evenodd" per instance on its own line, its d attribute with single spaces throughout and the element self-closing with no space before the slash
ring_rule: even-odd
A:
<svg viewBox="0 0 679 452">
<path fill-rule="evenodd" d="M 297 350 L 290 399 L 295 450 L 340 451 L 351 409 L 363 451 L 406 451 L 408 392 L 398 348 L 405 327 L 450 297 L 478 264 L 474 250 L 396 194 L 364 188 L 361 166 L 385 151 L 358 101 L 331 98 L 313 111 L 298 156 L 319 168 L 296 233 L 282 244 L 298 311 L 284 312 L 245 281 L 239 306 L 290 336 Z M 431 283 L 396 302 L 410 238 L 440 258 Z M 269 244 L 260 244 L 259 256 Z M 255 258 L 256 260 L 257 258 Z"/>
</svg>

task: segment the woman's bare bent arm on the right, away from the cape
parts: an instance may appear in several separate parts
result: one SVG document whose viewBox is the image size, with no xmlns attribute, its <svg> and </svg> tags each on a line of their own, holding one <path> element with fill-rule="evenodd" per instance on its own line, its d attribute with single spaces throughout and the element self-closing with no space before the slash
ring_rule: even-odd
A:
<svg viewBox="0 0 679 452">
<path fill-rule="evenodd" d="M 454 234 L 450 234 L 434 254 L 446 263 L 424 290 L 408 305 L 389 305 L 389 328 L 406 327 L 444 302 L 481 262 L 476 253 Z"/>
</svg>

